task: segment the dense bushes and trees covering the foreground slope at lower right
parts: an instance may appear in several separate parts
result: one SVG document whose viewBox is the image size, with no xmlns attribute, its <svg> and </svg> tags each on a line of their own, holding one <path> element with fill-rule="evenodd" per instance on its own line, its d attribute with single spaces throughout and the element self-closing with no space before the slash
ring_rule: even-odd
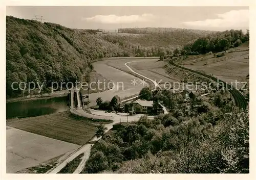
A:
<svg viewBox="0 0 256 180">
<path fill-rule="evenodd" d="M 167 90 L 161 95 L 172 99 L 169 114 L 113 127 L 82 173 L 249 173 L 248 109 L 233 109 L 227 90 L 186 102 Z"/>
</svg>

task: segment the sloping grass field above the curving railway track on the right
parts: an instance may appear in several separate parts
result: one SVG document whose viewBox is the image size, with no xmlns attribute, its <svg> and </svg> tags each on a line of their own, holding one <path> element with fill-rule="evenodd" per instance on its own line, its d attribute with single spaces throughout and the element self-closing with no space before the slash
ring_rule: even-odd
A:
<svg viewBox="0 0 256 180">
<path fill-rule="evenodd" d="M 246 76 L 249 74 L 249 51 L 245 51 L 246 49 L 248 49 L 248 43 L 237 47 L 237 52 L 225 53 L 225 56 L 219 58 L 214 57 L 214 55 L 204 55 L 196 59 L 185 59 L 181 65 L 212 74 L 216 78 L 227 83 L 232 82 L 234 85 L 236 81 L 246 82 Z M 242 86 L 243 84 L 238 84 L 238 88 Z"/>
</svg>

